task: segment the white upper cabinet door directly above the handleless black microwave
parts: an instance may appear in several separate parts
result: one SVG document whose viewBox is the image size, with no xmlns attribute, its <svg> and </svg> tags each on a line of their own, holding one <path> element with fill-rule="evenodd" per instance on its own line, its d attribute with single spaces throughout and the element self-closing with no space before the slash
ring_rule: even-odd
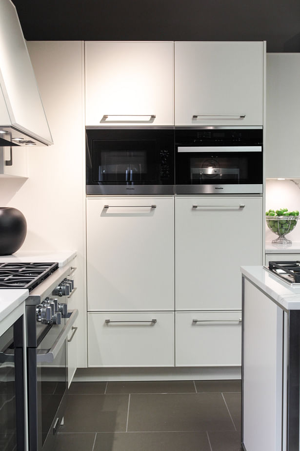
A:
<svg viewBox="0 0 300 451">
<path fill-rule="evenodd" d="M 174 125 L 172 42 L 86 42 L 86 126 Z"/>
</svg>

